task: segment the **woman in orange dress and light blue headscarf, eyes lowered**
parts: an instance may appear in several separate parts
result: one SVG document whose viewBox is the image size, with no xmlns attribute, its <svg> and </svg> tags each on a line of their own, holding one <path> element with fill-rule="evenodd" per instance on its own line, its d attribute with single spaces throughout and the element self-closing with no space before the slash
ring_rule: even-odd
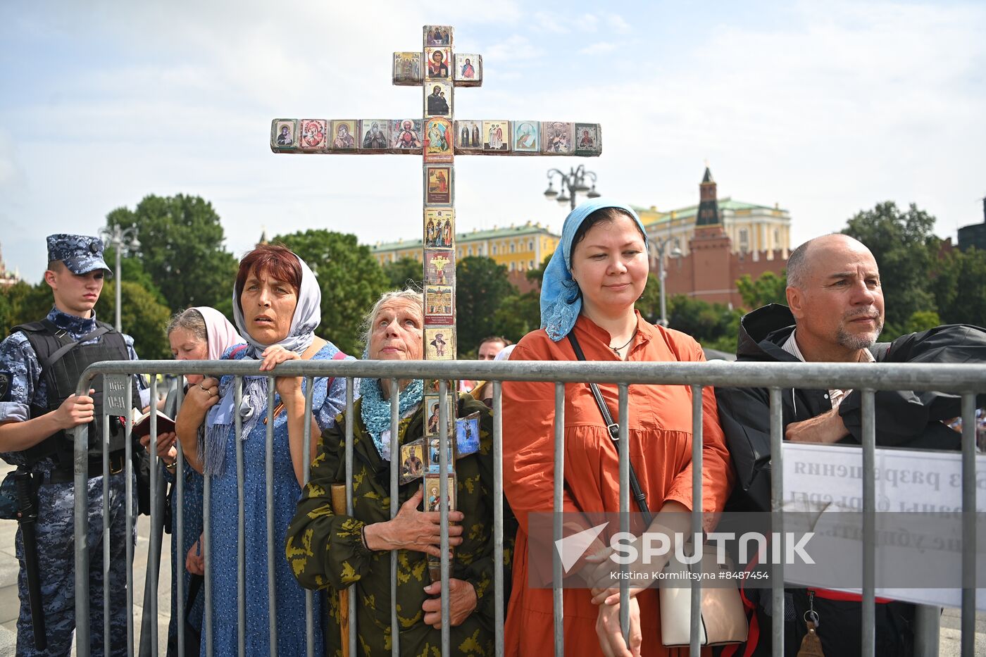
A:
<svg viewBox="0 0 986 657">
<path fill-rule="evenodd" d="M 565 219 L 562 239 L 545 269 L 541 288 L 541 329 L 528 333 L 511 360 L 576 360 L 569 333 L 586 358 L 600 361 L 701 361 L 702 348 L 690 336 L 649 324 L 634 310 L 648 277 L 644 228 L 625 205 L 591 200 Z M 614 421 L 615 385 L 600 385 Z M 691 389 L 687 386 L 635 385 L 629 388 L 630 462 L 654 512 L 652 528 L 689 532 L 684 512 L 691 497 Z M 733 484 L 733 467 L 719 426 L 711 388 L 703 389 L 703 510 L 722 510 Z M 550 563 L 553 546 L 534 544 L 528 513 L 550 512 L 553 502 L 554 384 L 503 385 L 504 492 L 520 521 L 514 584 L 507 612 L 506 654 L 548 655 L 554 651 L 552 591 L 530 588 L 530 570 Z M 619 511 L 619 465 L 615 446 L 587 384 L 565 386 L 564 511 Z M 631 499 L 631 511 L 637 511 Z M 675 513 L 679 512 L 679 513 Z M 568 517 L 566 517 L 566 521 Z M 543 522 L 543 521 L 542 521 Z M 609 528 L 607 528 L 609 529 Z M 611 532 L 603 531 L 608 545 Z M 536 554 L 531 563 L 528 548 Z M 567 575 L 579 572 L 599 581 L 599 565 L 580 559 Z M 594 577 L 593 574 L 597 573 Z M 661 642 L 656 588 L 630 589 L 630 645 L 619 627 L 618 596 L 599 589 L 563 590 L 566 654 L 668 655 Z M 595 594 L 595 597 L 594 597 Z M 681 651 L 687 654 L 687 648 Z"/>
</svg>

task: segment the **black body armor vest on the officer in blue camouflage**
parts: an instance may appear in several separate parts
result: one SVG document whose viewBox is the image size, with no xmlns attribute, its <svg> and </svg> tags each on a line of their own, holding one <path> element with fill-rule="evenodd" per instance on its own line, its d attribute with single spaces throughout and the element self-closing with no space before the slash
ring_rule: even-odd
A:
<svg viewBox="0 0 986 657">
<path fill-rule="evenodd" d="M 130 360 L 130 353 L 127 350 L 126 342 L 123 340 L 123 335 L 103 322 L 98 321 L 96 324 L 97 328 L 106 330 L 100 335 L 97 342 L 75 344 L 67 351 L 62 351 L 53 362 L 48 362 L 52 354 L 76 340 L 48 320 L 32 322 L 14 328 L 15 331 L 21 330 L 28 336 L 28 340 L 35 350 L 37 362 L 41 366 L 41 376 L 47 387 L 47 406 L 32 404 L 32 417 L 38 417 L 55 410 L 62 401 L 74 395 L 75 388 L 79 384 L 79 377 L 93 363 L 101 360 Z M 47 365 L 45 365 L 46 363 Z M 131 383 L 131 385 L 133 386 L 133 406 L 139 407 L 139 392 L 134 384 Z M 100 421 L 103 417 L 103 376 L 95 377 L 90 388 L 96 391 L 92 395 L 95 406 L 94 420 L 89 424 L 89 456 L 92 459 L 102 458 L 103 455 L 103 433 L 100 430 Z M 119 420 L 115 417 L 108 419 L 109 453 L 111 454 L 125 447 L 125 435 Z M 64 430 L 58 431 L 34 447 L 25 450 L 25 456 L 29 464 L 34 464 L 46 457 L 54 457 L 56 467 L 71 469 L 73 463 L 72 440 L 71 434 Z"/>
</svg>

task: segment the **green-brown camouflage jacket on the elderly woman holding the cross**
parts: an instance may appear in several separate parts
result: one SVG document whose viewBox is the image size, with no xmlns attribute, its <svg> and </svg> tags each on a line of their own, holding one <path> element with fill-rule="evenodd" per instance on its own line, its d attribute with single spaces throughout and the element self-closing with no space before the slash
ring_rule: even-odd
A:
<svg viewBox="0 0 986 657">
<path fill-rule="evenodd" d="M 319 441 L 309 484 L 302 492 L 298 511 L 288 528 L 287 557 L 302 586 L 329 591 L 326 640 L 329 654 L 341 655 L 339 596 L 337 591 L 356 584 L 356 627 L 360 653 L 390 654 L 390 553 L 363 546 L 364 525 L 390 518 L 389 463 L 383 461 L 360 417 L 360 401 L 353 411 L 353 510 L 354 517 L 332 512 L 330 484 L 345 477 L 345 419 L 340 414 Z M 480 411 L 479 452 L 460 456 L 456 463 L 458 510 L 464 516 L 462 545 L 456 547 L 452 577 L 470 582 L 476 591 L 475 611 L 452 627 L 452 654 L 493 654 L 493 418 L 490 410 L 468 395 L 459 397 L 458 416 Z M 399 443 L 423 435 L 419 408 L 400 420 Z M 400 486 L 400 502 L 421 484 L 414 479 Z M 510 582 L 510 558 L 516 523 L 504 504 L 504 581 Z M 509 520 L 508 520 L 509 518 Z M 511 528 L 509 533 L 506 528 Z M 441 630 L 426 625 L 421 604 L 428 597 L 423 587 L 430 582 L 424 552 L 397 552 L 397 621 L 400 653 L 439 655 Z M 334 653 L 332 650 L 334 649 Z"/>
</svg>

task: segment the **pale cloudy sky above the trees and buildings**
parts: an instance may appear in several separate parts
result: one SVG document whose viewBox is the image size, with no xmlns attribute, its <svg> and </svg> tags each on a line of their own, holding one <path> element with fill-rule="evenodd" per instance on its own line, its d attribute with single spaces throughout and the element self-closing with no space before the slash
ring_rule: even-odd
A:
<svg viewBox="0 0 986 657">
<path fill-rule="evenodd" d="M 793 245 L 887 199 L 942 237 L 982 221 L 986 3 L 602 6 L 7 0 L 3 256 L 35 282 L 45 235 L 96 234 L 151 193 L 212 201 L 236 255 L 263 227 L 420 237 L 419 159 L 275 155 L 268 134 L 274 117 L 420 116 L 390 53 L 425 24 L 483 55 L 458 118 L 602 124 L 596 159 L 458 158 L 459 231 L 560 229 L 545 172 L 582 162 L 606 196 L 670 209 L 697 202 L 708 161 L 720 197 L 787 208 Z"/>
</svg>

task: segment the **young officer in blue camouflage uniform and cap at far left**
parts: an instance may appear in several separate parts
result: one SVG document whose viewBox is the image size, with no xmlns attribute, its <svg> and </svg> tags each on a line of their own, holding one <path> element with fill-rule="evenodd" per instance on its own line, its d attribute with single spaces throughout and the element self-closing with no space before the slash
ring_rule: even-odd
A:
<svg viewBox="0 0 986 657">
<path fill-rule="evenodd" d="M 18 327 L 0 342 L 0 457 L 30 472 L 36 491 L 37 558 L 41 604 L 44 610 L 47 649 L 35 649 L 35 635 L 28 599 L 24 543 L 19 529 L 15 539 L 21 569 L 18 595 L 21 612 L 17 621 L 18 655 L 68 655 L 75 627 L 74 483 L 71 429 L 90 424 L 91 439 L 102 436 L 102 396 L 66 394 L 67 382 L 77 382 L 87 364 L 87 354 L 99 359 L 136 360 L 133 339 L 96 321 L 93 310 L 110 274 L 99 238 L 51 235 L 47 238 L 48 269 L 45 282 L 54 294 L 54 307 L 42 323 Z M 96 335 L 93 337 L 93 335 Z M 82 339 L 85 338 L 85 339 Z M 38 358 L 37 340 L 47 344 L 75 342 L 67 356 L 44 370 Z M 51 340 L 55 340 L 51 342 Z M 93 347 L 96 347 L 94 350 Z M 42 350 L 46 347 L 40 347 Z M 87 350 L 88 349 L 88 350 Z M 115 354 L 115 356 L 107 356 Z M 50 355 L 50 354 L 49 354 Z M 52 372 L 62 366 L 60 379 Z M 78 370 L 76 372 L 75 370 Z M 57 383 L 61 382 L 61 383 Z M 57 385 L 56 385 L 57 383 Z M 94 381 L 102 389 L 102 382 Z M 141 386 L 142 387 L 142 386 Z M 57 391 L 52 391 L 57 388 Z M 74 393 L 74 385 L 71 387 Z M 97 400 L 94 402 L 94 397 Z M 61 398 L 65 398 L 61 401 Z M 57 404 L 57 405 L 56 405 Z M 94 421 L 95 420 L 95 421 Z M 118 427 L 114 433 L 118 433 Z M 161 440 L 174 440 L 162 434 Z M 118 445 L 119 442 L 117 441 Z M 111 445 L 113 443 L 111 442 Z M 101 441 L 96 441 L 97 450 Z M 126 530 L 125 475 L 122 452 L 110 455 L 109 586 L 110 645 L 112 654 L 126 654 Z M 91 452 L 89 463 L 90 636 L 93 654 L 103 654 L 103 465 Z M 136 487 L 134 488 L 136 490 Z M 133 503 L 136 516 L 136 503 Z M 132 542 L 134 537 L 129 540 Z"/>
</svg>

